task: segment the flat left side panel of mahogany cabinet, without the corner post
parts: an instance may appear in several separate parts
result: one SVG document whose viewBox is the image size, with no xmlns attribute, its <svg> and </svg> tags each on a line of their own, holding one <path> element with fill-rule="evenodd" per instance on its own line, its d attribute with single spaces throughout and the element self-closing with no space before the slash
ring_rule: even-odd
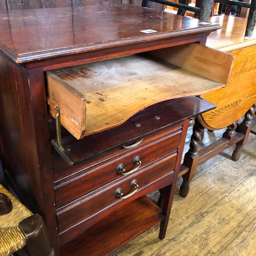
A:
<svg viewBox="0 0 256 256">
<path fill-rule="evenodd" d="M 0 113 L 1 148 L 4 168 L 22 191 L 25 204 L 38 210 L 42 196 L 35 193 L 31 184 L 40 187 L 36 173 L 37 163 L 32 160 L 36 148 L 28 90 L 24 84 L 24 71 L 5 57 L 0 56 Z M 33 174 L 33 176 L 31 176 Z M 38 187 L 38 188 L 39 188 Z M 31 196 L 34 195 L 34 198 Z"/>
</svg>

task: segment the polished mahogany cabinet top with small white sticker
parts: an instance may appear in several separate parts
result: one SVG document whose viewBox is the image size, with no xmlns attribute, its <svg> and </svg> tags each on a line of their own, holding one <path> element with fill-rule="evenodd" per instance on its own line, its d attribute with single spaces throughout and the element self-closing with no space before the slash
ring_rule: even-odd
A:
<svg viewBox="0 0 256 256">
<path fill-rule="evenodd" d="M 18 63 L 220 28 L 133 5 L 1 11 L 0 21 L 0 50 Z"/>
</svg>

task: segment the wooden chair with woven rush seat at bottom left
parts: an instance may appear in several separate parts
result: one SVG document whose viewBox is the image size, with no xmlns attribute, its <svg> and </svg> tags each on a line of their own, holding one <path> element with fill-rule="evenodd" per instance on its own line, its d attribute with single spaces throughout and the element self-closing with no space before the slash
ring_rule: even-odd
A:
<svg viewBox="0 0 256 256">
<path fill-rule="evenodd" d="M 0 184 L 0 255 L 54 255 L 44 219 Z"/>
</svg>

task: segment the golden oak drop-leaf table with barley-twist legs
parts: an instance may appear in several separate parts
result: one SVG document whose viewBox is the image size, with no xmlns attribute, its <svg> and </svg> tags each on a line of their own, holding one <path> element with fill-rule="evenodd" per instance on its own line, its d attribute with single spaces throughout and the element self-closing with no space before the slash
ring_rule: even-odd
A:
<svg viewBox="0 0 256 256">
<path fill-rule="evenodd" d="M 207 159 L 219 154 L 227 147 L 236 144 L 232 160 L 238 161 L 242 147 L 251 130 L 256 101 L 256 39 L 244 38 L 246 20 L 234 16 L 216 16 L 212 22 L 222 25 L 221 31 L 212 33 L 207 45 L 212 48 L 232 53 L 236 56 L 229 82 L 225 88 L 201 97 L 214 102 L 215 110 L 197 117 L 191 137 L 190 149 L 185 155 L 180 176 L 183 183 L 180 195 L 186 197 L 189 181 L 194 178 L 196 168 Z M 255 32 L 254 32 L 255 34 Z M 237 127 L 237 121 L 245 115 L 244 121 Z M 223 138 L 199 150 L 204 129 L 220 130 L 228 127 Z"/>
</svg>

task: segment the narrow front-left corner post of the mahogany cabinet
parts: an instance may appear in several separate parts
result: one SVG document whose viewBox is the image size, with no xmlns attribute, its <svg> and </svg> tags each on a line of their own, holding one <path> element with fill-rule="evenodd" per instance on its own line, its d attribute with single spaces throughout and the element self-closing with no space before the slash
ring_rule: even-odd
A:
<svg viewBox="0 0 256 256">
<path fill-rule="evenodd" d="M 44 73 L 41 69 L 33 69 L 28 71 L 29 75 L 29 91 L 31 97 L 31 110 L 33 114 L 33 123 L 35 130 L 35 143 L 37 154 L 37 166 L 32 169 L 31 172 L 39 169 L 40 177 L 40 189 L 42 194 L 42 203 L 44 210 L 40 210 L 40 213 L 44 212 L 44 216 L 47 227 L 49 230 L 49 236 L 52 244 L 57 246 L 57 223 L 55 216 L 55 199 L 52 186 L 52 162 L 51 162 L 51 147 L 49 145 L 49 130 L 48 130 L 48 114 L 46 101 L 46 92 L 44 87 Z M 26 112 L 25 112 L 26 113 Z M 38 118 L 40 116 L 40 118 Z M 39 156 L 39 157 L 38 157 Z M 48 184 L 47 186 L 45 184 Z M 38 190 L 36 191 L 38 194 Z M 33 195 L 34 197 L 34 195 Z M 36 211 L 37 212 L 37 211 Z M 50 228 L 51 227 L 51 228 Z M 54 231 L 52 228 L 54 227 Z"/>
</svg>

